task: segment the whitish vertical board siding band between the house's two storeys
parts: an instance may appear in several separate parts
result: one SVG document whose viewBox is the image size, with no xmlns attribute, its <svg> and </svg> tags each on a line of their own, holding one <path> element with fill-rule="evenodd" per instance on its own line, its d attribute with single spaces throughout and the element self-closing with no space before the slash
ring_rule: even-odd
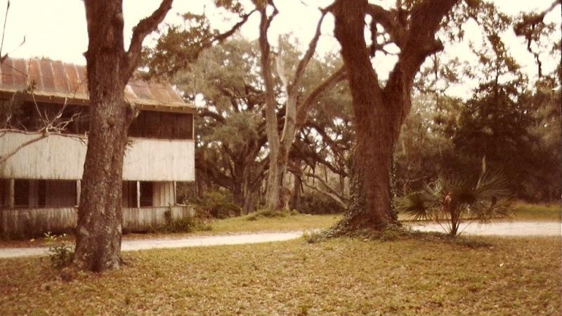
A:
<svg viewBox="0 0 562 316">
<path fill-rule="evenodd" d="M 8 132 L 0 137 L 0 156 L 39 134 Z M 79 180 L 86 140 L 51 135 L 27 145 L 0 166 L 0 178 Z M 131 138 L 123 164 L 124 180 L 195 180 L 195 142 Z"/>
</svg>

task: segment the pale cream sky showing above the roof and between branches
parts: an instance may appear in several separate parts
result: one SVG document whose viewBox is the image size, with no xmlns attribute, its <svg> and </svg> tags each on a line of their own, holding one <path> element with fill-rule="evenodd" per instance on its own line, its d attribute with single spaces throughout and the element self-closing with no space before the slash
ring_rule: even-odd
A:
<svg viewBox="0 0 562 316">
<path fill-rule="evenodd" d="M 385 0 L 389 1 L 389 0 Z M 495 0 L 494 2 L 505 13 L 516 14 L 521 11 L 544 10 L 552 0 Z M 0 0 L 0 14 L 4 16 L 7 0 Z M 131 29 L 138 20 L 150 15 L 157 8 L 160 0 L 124 0 L 125 18 L 125 38 L 131 36 Z M 187 1 L 175 0 L 172 11 L 168 13 L 164 22 L 177 24 L 181 23 L 178 14 L 188 11 L 201 13 L 206 10 L 211 13 L 211 22 L 214 26 L 228 29 L 234 21 L 224 21 L 223 15 L 212 10 L 212 4 L 204 4 L 207 1 Z M 211 1 L 209 1 L 211 2 Z M 270 41 L 275 44 L 277 34 L 292 32 L 299 37 L 301 43 L 307 43 L 311 39 L 319 18 L 318 6 L 329 4 L 331 0 L 277 0 L 280 14 L 275 18 L 270 33 Z M 377 3 L 379 1 L 373 1 Z M 392 3 L 393 1 L 391 1 Z M 309 4 L 304 6 L 303 3 Z M 561 23 L 560 6 L 552 12 L 548 20 Z M 0 21 L 3 21 L 2 18 Z M 254 17 L 242 29 L 244 37 L 255 39 L 258 34 L 258 15 Z M 338 51 L 339 45 L 332 36 L 333 18 L 328 15 L 322 27 L 322 36 L 319 44 L 321 51 Z M 532 55 L 525 51 L 523 39 L 518 39 L 512 34 L 506 34 L 505 41 L 511 48 L 511 54 L 529 72 L 536 71 Z M 26 37 L 25 44 L 18 48 L 23 37 Z M 145 40 L 145 44 L 150 44 L 150 38 Z M 471 41 L 481 41 L 481 33 L 476 27 L 466 29 L 466 38 Z M 128 43 L 126 43 L 128 44 Z M 2 53 L 9 52 L 13 57 L 47 57 L 53 60 L 62 60 L 75 64 L 84 65 L 86 60 L 82 53 L 86 51 L 88 38 L 86 33 L 86 18 L 84 13 L 84 3 L 81 0 L 11 0 L 11 8 L 8 13 L 6 25 L 6 35 Z M 466 48 L 462 46 L 452 47 L 449 51 L 462 52 Z M 377 65 L 379 64 L 379 65 Z M 379 67 L 391 68 L 391 62 L 381 60 L 376 62 L 377 70 Z M 556 63 L 550 62 L 547 65 L 554 67 Z M 382 71 L 384 73 L 384 71 Z M 383 74 L 384 77 L 384 74 Z"/>
</svg>

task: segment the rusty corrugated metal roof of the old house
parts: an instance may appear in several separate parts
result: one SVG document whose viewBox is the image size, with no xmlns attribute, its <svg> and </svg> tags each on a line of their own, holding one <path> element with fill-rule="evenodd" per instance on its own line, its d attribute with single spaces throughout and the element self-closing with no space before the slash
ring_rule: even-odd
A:
<svg viewBox="0 0 562 316">
<path fill-rule="evenodd" d="M 6 58 L 0 67 L 0 92 L 27 91 L 34 96 L 69 103 L 87 104 L 89 100 L 86 66 L 55 60 Z M 133 76 L 134 77 L 134 76 Z M 138 77 L 138 76 L 137 76 Z M 125 100 L 146 110 L 192 111 L 169 83 L 134 78 L 125 88 Z"/>
</svg>

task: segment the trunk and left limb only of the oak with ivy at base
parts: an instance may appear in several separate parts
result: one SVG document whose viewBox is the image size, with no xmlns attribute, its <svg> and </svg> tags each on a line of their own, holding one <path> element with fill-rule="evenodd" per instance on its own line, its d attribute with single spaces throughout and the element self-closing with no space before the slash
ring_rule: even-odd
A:
<svg viewBox="0 0 562 316">
<path fill-rule="evenodd" d="M 334 33 L 348 71 L 353 97 L 356 147 L 353 161 L 351 206 L 339 223 L 341 230 L 381 230 L 397 224 L 391 207 L 390 168 L 397 124 L 392 107 L 379 88 L 365 48 L 364 20 L 367 1 L 340 2 Z"/>
</svg>

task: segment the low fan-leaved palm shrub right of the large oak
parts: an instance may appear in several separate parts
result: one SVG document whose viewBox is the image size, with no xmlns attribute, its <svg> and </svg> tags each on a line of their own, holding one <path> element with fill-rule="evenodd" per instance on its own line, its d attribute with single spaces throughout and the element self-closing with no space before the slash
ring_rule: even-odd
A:
<svg viewBox="0 0 562 316">
<path fill-rule="evenodd" d="M 501 173 L 486 172 L 483 164 L 478 177 L 439 176 L 423 190 L 398 197 L 396 207 L 414 216 L 414 220 L 435 220 L 455 236 L 463 220 L 469 220 L 470 225 L 508 216 L 508 185 Z"/>
</svg>

